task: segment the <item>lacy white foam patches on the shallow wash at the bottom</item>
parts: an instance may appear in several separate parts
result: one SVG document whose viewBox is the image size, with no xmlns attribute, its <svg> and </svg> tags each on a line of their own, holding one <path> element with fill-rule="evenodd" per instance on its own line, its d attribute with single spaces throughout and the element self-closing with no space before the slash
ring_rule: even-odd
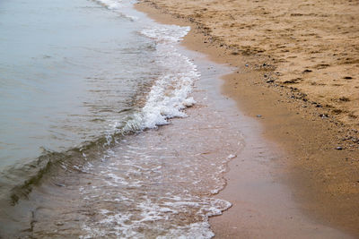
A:
<svg viewBox="0 0 359 239">
<path fill-rule="evenodd" d="M 209 168 L 206 173 L 201 173 L 198 170 L 203 161 L 199 156 L 197 159 L 174 158 L 171 149 L 159 148 L 158 143 L 162 141 L 156 140 L 157 143 L 145 146 L 136 141 L 123 141 L 118 149 L 109 152 L 105 165 L 89 172 L 92 184 L 81 187 L 79 193 L 86 207 L 91 207 L 95 213 L 96 220 L 83 221 L 81 238 L 205 239 L 214 236 L 208 218 L 221 215 L 231 203 L 193 193 L 204 183 L 193 189 L 188 186 L 204 177 L 210 179 L 212 175 L 210 188 L 219 190 L 223 183 L 218 174 L 223 172 L 223 163 L 229 159 L 214 162 L 209 173 Z M 151 154 L 153 151 L 156 151 L 154 155 Z M 189 173 L 188 166 L 197 169 Z M 93 187 L 94 184 L 101 186 Z M 187 186 L 182 188 L 181 184 Z M 107 193 L 103 193 L 104 188 Z"/>
</svg>

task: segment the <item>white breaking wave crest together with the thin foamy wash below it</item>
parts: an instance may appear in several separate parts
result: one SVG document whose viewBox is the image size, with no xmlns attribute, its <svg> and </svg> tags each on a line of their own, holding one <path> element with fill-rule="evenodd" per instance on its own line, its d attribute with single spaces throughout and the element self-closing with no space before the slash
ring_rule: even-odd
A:
<svg viewBox="0 0 359 239">
<path fill-rule="evenodd" d="M 110 3 L 109 9 L 117 8 Z M 211 84 L 228 69 L 180 49 L 188 27 L 156 26 L 141 34 L 156 41 L 164 72 L 144 106 L 115 132 L 64 152 L 45 151 L 25 166 L 29 178 L 2 202 L 0 235 L 214 236 L 208 217 L 231 204 L 212 196 L 223 189 L 225 165 L 241 149 L 241 132 L 227 122 L 236 114 L 233 106 Z M 201 90 L 192 90 L 195 82 Z M 193 107 L 190 117 L 186 107 Z M 169 121 L 178 117 L 184 118 Z M 171 125 L 158 128 L 164 124 Z"/>
</svg>

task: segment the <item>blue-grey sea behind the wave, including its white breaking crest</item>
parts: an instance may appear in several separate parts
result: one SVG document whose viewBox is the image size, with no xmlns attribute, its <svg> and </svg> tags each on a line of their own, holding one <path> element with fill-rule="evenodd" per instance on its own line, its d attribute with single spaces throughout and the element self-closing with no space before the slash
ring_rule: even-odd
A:
<svg viewBox="0 0 359 239">
<path fill-rule="evenodd" d="M 131 2 L 4 1 L 0 20 L 2 198 L 73 151 L 166 124 L 181 100 L 191 104 L 195 66 L 171 50 L 188 28 L 156 25 Z M 161 85 L 148 102 L 169 77 L 181 78 L 178 90 L 162 98 Z"/>
</svg>

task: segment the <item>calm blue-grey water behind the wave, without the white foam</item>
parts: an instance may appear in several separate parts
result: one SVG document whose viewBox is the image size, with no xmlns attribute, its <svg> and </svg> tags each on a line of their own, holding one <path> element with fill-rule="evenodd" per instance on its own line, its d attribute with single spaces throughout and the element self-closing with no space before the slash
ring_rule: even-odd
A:
<svg viewBox="0 0 359 239">
<path fill-rule="evenodd" d="M 83 0 L 1 9 L 2 169 L 110 133 L 152 84 L 154 43 L 135 21 Z"/>
</svg>

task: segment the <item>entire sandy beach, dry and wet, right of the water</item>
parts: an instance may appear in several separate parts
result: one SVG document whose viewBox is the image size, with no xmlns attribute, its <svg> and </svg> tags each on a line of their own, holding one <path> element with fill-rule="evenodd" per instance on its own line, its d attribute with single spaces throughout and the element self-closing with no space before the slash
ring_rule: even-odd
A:
<svg viewBox="0 0 359 239">
<path fill-rule="evenodd" d="M 303 214 L 311 226 L 326 225 L 357 237 L 358 4 L 152 0 L 136 8 L 158 21 L 190 25 L 186 47 L 235 67 L 234 73 L 223 77 L 223 94 L 263 127 L 258 131 L 260 139 L 276 145 L 262 151 L 246 144 L 232 160 L 225 175 L 227 186 L 218 196 L 232 201 L 233 206 L 223 216 L 211 218 L 215 235 L 341 237 L 330 231 L 325 231 L 326 235 L 318 227 L 314 229 L 323 234 L 301 234 L 305 223 L 290 221 Z M 259 138 L 252 138 L 252 143 Z M 300 212 L 286 210 L 291 208 L 287 204 L 282 209 L 284 199 L 270 197 L 276 193 L 273 184 L 262 185 L 268 192 L 260 192 L 267 194 L 255 197 L 257 190 L 249 184 L 259 181 L 241 175 L 246 167 L 239 166 L 241 161 L 270 158 L 267 149 L 281 152 L 276 162 L 269 164 L 276 168 L 269 174 L 275 182 L 285 184 L 291 192 L 290 201 Z M 267 178 L 260 170 L 253 170 L 259 178 Z M 266 201 L 266 205 L 261 204 Z M 280 210 L 285 212 L 278 213 Z M 257 217 L 255 211 L 259 211 Z M 288 223 L 281 226 L 277 218 Z M 276 234 L 276 230 L 283 231 Z"/>
</svg>

